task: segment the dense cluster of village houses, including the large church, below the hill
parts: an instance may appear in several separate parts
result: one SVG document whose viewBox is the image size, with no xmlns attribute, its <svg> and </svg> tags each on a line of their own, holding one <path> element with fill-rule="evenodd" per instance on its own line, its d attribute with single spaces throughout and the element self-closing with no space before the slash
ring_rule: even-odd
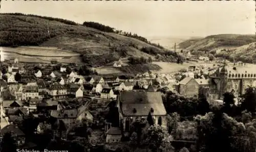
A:
<svg viewBox="0 0 256 152">
<path fill-rule="evenodd" d="M 26 70 L 25 70 L 26 69 Z M 146 72 L 131 77 L 84 77 L 77 72 L 67 72 L 67 67 L 50 69 L 42 67 L 34 70 L 20 67 L 18 61 L 9 65 L 6 74 L 1 73 L 1 118 L 6 124 L 1 126 L 1 133 L 12 132 L 18 146 L 27 146 L 25 134 L 16 123 L 23 121 L 26 116 L 41 117 L 48 115 L 54 122 L 40 122 L 35 132 L 43 134 L 52 130 L 54 136 L 67 140 L 69 128 L 76 121 L 86 119 L 94 122 L 93 115 L 88 110 L 90 102 L 83 102 L 85 97 L 116 101 L 118 118 L 115 121 L 123 125 L 112 126 L 112 120 L 106 120 L 106 143 L 119 142 L 121 130 L 129 132 L 130 124 L 136 118 L 146 118 L 148 113 L 153 116 L 154 122 L 165 126 L 164 109 L 161 93 L 158 88 L 174 88 L 176 80 L 165 74 Z M 15 80 L 15 74 L 22 75 L 21 81 Z M 2 79 L 6 75 L 7 79 Z M 32 79 L 31 79 L 32 78 Z M 137 89 L 135 90 L 135 86 Z M 79 107 L 65 104 L 65 100 L 82 101 Z M 139 103 L 138 103 L 139 101 Z M 115 116 L 113 116 L 115 117 Z M 2 124 L 2 122 L 1 122 Z M 120 124 L 120 123 L 118 123 Z M 3 136 L 2 136 L 3 137 Z"/>
</svg>

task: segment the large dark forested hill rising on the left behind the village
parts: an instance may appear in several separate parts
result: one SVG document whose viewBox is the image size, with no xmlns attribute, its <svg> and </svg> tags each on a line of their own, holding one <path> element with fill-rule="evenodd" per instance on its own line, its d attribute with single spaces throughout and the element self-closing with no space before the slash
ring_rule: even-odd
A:
<svg viewBox="0 0 256 152">
<path fill-rule="evenodd" d="M 0 14 L 0 46 L 22 45 L 57 46 L 86 54 L 86 60 L 97 57 L 102 64 L 135 56 L 169 62 L 184 60 L 180 55 L 158 44 L 151 44 L 137 34 L 115 30 L 100 23 L 86 21 L 78 24 L 37 15 Z"/>
</svg>

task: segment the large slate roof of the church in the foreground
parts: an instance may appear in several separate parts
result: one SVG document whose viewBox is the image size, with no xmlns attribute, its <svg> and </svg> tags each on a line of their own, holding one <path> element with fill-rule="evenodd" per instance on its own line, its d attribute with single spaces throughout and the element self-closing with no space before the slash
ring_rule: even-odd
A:
<svg viewBox="0 0 256 152">
<path fill-rule="evenodd" d="M 166 115 L 160 92 L 125 91 L 120 93 L 119 99 L 125 116 L 147 116 L 151 108 L 154 109 L 152 115 Z"/>
</svg>

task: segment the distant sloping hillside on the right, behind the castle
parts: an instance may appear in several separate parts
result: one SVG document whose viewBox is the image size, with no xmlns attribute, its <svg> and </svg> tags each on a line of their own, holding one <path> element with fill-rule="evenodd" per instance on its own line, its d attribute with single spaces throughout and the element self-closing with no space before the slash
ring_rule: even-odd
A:
<svg viewBox="0 0 256 152">
<path fill-rule="evenodd" d="M 256 62 L 255 35 L 221 34 L 205 38 L 189 39 L 179 44 L 191 54 L 213 54 L 230 60 Z"/>
</svg>

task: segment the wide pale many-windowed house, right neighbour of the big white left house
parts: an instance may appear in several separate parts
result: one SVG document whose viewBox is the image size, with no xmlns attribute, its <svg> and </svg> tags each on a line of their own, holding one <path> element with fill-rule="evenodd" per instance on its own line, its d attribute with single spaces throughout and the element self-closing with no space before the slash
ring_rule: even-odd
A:
<svg viewBox="0 0 256 152">
<path fill-rule="evenodd" d="M 53 98 L 64 98 L 68 95 L 67 87 L 59 83 L 53 83 L 48 89 L 48 94 Z"/>
</svg>

